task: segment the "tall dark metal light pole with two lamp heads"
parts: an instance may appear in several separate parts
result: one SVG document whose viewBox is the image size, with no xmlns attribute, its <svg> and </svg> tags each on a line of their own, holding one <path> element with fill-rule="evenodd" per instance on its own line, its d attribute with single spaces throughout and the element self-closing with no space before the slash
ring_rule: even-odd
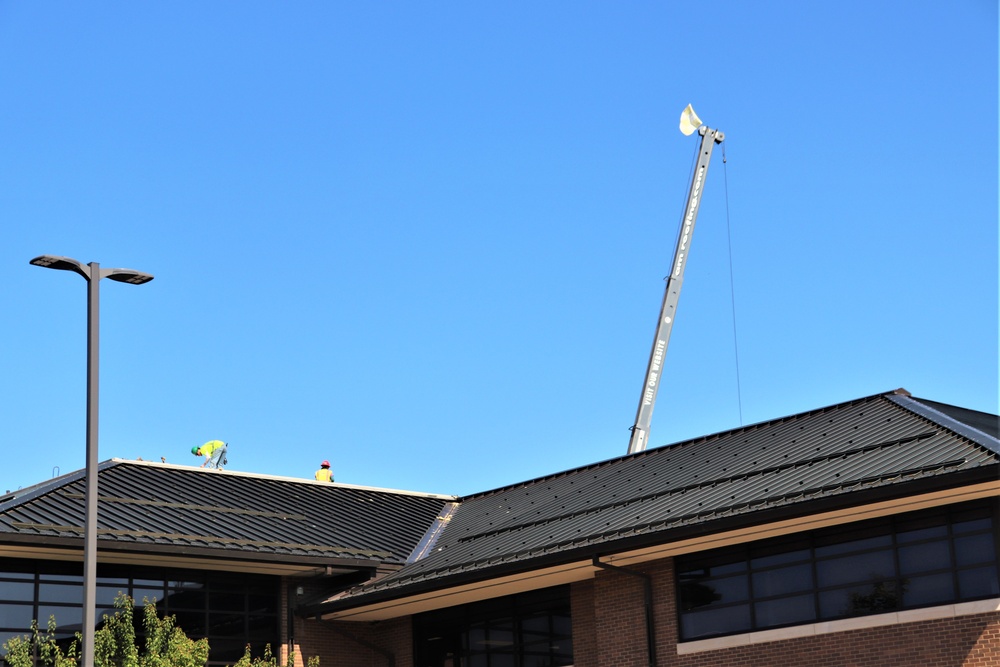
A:
<svg viewBox="0 0 1000 667">
<path fill-rule="evenodd" d="M 83 667 L 94 667 L 94 631 L 97 580 L 97 398 L 100 341 L 100 283 L 110 278 L 121 283 L 142 285 L 153 279 L 132 269 L 102 269 L 97 262 L 84 265 L 69 257 L 41 255 L 31 264 L 47 269 L 73 271 L 87 281 L 87 474 L 84 502 L 87 516 L 83 526 Z"/>
</svg>

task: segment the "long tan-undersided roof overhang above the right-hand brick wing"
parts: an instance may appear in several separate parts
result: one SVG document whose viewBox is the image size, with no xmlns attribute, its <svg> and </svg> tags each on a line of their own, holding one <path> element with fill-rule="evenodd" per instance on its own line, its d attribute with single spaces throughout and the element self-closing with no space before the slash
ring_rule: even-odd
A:
<svg viewBox="0 0 1000 667">
<path fill-rule="evenodd" d="M 673 533 L 661 539 L 656 544 L 636 544 L 635 546 L 616 543 L 614 545 L 596 545 L 575 550 L 563 555 L 563 562 L 550 562 L 550 559 L 533 559 L 524 563 L 511 564 L 502 568 L 491 568 L 488 572 L 456 575 L 453 578 L 425 582 L 407 586 L 406 590 L 388 590 L 382 595 L 366 594 L 358 599 L 358 604 L 351 604 L 350 598 L 321 605 L 317 616 L 324 620 L 340 621 L 382 621 L 401 616 L 418 614 L 451 607 L 466 602 L 484 600 L 525 591 L 556 586 L 560 584 L 585 581 L 594 577 L 600 568 L 595 567 L 593 559 L 612 563 L 619 567 L 634 566 L 649 561 L 660 560 L 671 556 L 715 549 L 732 544 L 740 544 L 755 540 L 778 537 L 792 533 L 814 530 L 825 526 L 863 521 L 881 516 L 889 516 L 902 512 L 911 512 L 930 507 L 950 505 L 954 503 L 976 500 L 980 498 L 1000 496 L 1000 477 L 996 467 L 989 481 L 978 481 L 964 486 L 949 487 L 918 494 L 896 495 L 888 499 L 873 499 L 870 502 L 845 505 L 823 510 L 810 503 L 812 512 L 799 512 L 795 516 L 782 517 L 780 514 L 769 513 L 768 518 L 757 515 L 744 517 L 742 525 L 724 527 L 718 522 L 717 527 L 706 530 L 704 526 L 698 531 L 688 531 L 689 534 Z M 980 473 L 983 471 L 980 470 Z M 787 512 L 785 513 L 787 515 Z M 750 521 L 746 519 L 750 518 Z M 693 533 L 693 534 L 692 534 Z M 475 578 L 478 575 L 478 578 Z M 492 575 L 492 576 L 491 576 Z M 323 608 L 329 611 L 323 611 Z"/>
</svg>

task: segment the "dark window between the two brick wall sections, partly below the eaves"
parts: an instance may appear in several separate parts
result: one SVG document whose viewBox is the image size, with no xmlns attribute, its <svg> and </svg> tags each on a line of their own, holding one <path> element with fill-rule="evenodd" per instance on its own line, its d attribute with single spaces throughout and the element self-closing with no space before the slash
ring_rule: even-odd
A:
<svg viewBox="0 0 1000 667">
<path fill-rule="evenodd" d="M 419 667 L 573 664 L 569 587 L 557 586 L 415 616 Z"/>
</svg>

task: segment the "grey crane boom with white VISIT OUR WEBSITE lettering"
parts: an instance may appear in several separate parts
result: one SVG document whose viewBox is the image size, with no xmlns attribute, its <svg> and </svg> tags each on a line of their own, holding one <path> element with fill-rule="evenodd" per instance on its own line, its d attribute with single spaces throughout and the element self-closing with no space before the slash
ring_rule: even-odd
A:
<svg viewBox="0 0 1000 667">
<path fill-rule="evenodd" d="M 690 109 L 690 107 L 688 107 Z M 693 112 L 692 112 L 693 116 Z M 693 116 L 697 119 L 697 116 Z M 682 131 L 684 118 L 681 120 Z M 635 413 L 635 425 L 630 429 L 632 435 L 628 443 L 628 453 L 634 454 L 646 449 L 649 438 L 649 424 L 653 418 L 653 406 L 656 403 L 656 392 L 660 388 L 660 377 L 663 361 L 667 355 L 667 345 L 670 342 L 670 331 L 673 329 L 677 316 L 677 302 L 681 295 L 681 285 L 684 282 L 684 268 L 691 254 L 691 239 L 694 237 L 694 223 L 698 219 L 698 208 L 701 205 L 702 193 L 705 190 L 705 180 L 708 176 L 708 163 L 712 159 L 712 148 L 722 143 L 725 135 L 702 125 L 698 128 L 701 135 L 701 149 L 698 152 L 698 164 L 691 178 L 691 189 L 688 192 L 687 206 L 684 209 L 684 220 L 677 236 L 677 248 L 674 250 L 674 261 L 667 276 L 667 285 L 663 292 L 663 305 L 660 307 L 660 319 L 656 325 L 656 336 L 653 338 L 653 349 L 649 353 L 649 364 L 646 366 L 646 378 L 642 383 L 642 395 L 639 398 L 639 409 Z"/>
</svg>

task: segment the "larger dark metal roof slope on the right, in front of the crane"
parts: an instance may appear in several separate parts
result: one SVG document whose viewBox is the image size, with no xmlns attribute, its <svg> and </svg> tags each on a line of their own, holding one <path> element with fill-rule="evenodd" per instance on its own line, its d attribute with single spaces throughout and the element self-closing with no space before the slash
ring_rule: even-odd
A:
<svg viewBox="0 0 1000 667">
<path fill-rule="evenodd" d="M 997 478 L 994 436 L 897 390 L 462 498 L 430 553 L 326 610 Z M 966 415 L 968 416 L 968 415 Z M 964 480 L 964 481 L 963 481 Z"/>
</svg>

